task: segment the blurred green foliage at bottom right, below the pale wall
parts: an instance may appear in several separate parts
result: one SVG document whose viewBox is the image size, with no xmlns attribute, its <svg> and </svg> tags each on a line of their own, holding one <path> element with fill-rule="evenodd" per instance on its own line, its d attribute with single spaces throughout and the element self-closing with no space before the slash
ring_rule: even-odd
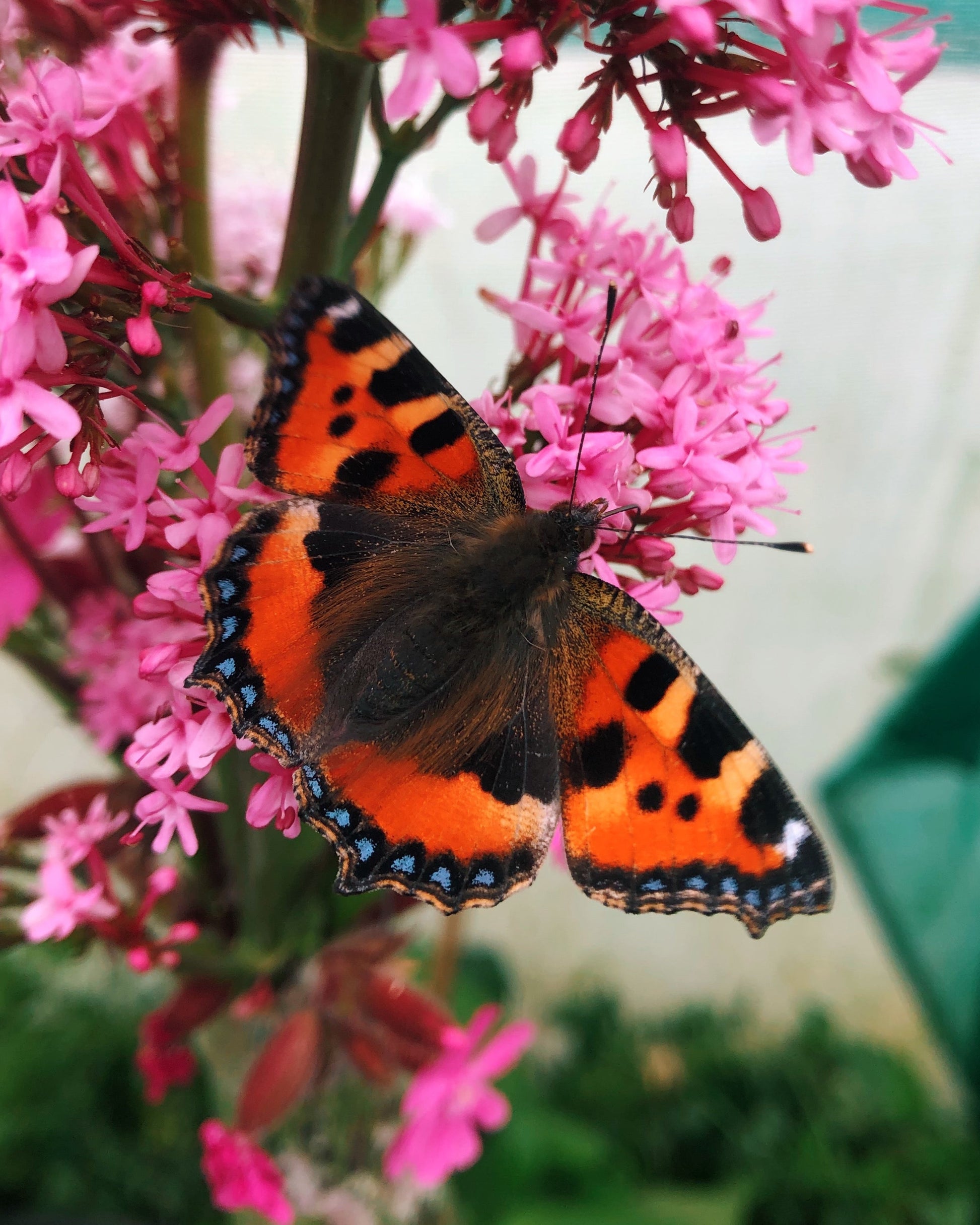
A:
<svg viewBox="0 0 980 1225">
<path fill-rule="evenodd" d="M 559 1009 L 503 1082 L 510 1126 L 457 1176 L 469 1225 L 965 1225 L 980 1148 L 907 1060 L 820 1013 Z"/>
</svg>

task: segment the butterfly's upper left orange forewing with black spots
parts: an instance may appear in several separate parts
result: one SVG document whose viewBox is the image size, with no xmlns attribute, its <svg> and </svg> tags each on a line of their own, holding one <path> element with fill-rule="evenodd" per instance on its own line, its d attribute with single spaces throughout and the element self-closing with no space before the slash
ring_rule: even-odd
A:
<svg viewBox="0 0 980 1225">
<path fill-rule="evenodd" d="M 285 494 L 442 516 L 521 512 L 513 461 L 419 350 L 338 281 L 299 282 L 246 442 Z"/>
</svg>

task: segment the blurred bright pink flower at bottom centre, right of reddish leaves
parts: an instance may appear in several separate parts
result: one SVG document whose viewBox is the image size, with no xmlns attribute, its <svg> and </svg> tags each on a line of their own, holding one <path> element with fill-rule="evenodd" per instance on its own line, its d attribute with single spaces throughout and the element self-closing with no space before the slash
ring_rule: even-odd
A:
<svg viewBox="0 0 980 1225">
<path fill-rule="evenodd" d="M 479 1008 L 466 1029 L 448 1028 L 442 1054 L 415 1074 L 402 1099 L 405 1122 L 385 1153 L 385 1175 L 412 1175 L 437 1187 L 479 1158 L 480 1131 L 499 1131 L 511 1116 L 507 1099 L 490 1080 L 517 1063 L 534 1040 L 528 1020 L 505 1025 L 480 1046 L 500 1009 Z"/>
</svg>

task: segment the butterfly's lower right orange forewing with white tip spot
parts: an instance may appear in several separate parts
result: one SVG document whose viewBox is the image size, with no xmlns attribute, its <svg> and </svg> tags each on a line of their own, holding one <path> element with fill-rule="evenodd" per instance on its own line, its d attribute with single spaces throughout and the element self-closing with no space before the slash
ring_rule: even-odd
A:
<svg viewBox="0 0 980 1225">
<path fill-rule="evenodd" d="M 753 936 L 827 910 L 820 838 L 766 750 L 626 593 L 572 579 L 559 668 L 576 883 L 630 911 L 736 915 Z"/>
</svg>

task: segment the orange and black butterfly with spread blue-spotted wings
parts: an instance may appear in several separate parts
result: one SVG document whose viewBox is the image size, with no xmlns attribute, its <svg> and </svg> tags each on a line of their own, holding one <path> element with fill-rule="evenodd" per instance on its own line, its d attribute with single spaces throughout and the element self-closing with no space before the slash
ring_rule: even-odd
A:
<svg viewBox="0 0 980 1225">
<path fill-rule="evenodd" d="M 300 282 L 246 441 L 284 500 L 201 581 L 189 685 L 293 769 L 336 886 L 453 913 L 532 882 L 562 821 L 589 897 L 828 909 L 820 838 L 674 638 L 578 570 L 605 505 L 528 510 L 507 450 L 360 294 Z"/>
</svg>

